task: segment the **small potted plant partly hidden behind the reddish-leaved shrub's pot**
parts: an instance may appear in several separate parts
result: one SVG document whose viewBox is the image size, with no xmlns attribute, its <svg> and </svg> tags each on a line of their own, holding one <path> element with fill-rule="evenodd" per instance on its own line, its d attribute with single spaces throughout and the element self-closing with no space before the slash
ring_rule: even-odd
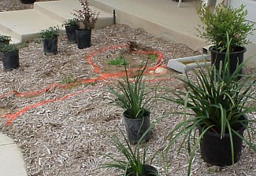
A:
<svg viewBox="0 0 256 176">
<path fill-rule="evenodd" d="M 76 43 L 76 30 L 78 30 L 76 18 L 65 20 L 64 24 L 69 43 Z"/>
</svg>

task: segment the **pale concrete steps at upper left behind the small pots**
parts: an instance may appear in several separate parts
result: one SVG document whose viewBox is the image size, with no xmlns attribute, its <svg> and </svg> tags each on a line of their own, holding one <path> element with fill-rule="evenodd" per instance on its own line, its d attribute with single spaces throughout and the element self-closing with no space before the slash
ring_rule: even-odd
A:
<svg viewBox="0 0 256 176">
<path fill-rule="evenodd" d="M 34 9 L 17 10 L 0 13 L 0 34 L 12 37 L 11 43 L 20 43 L 38 37 L 38 32 L 50 26 L 63 24 L 73 17 L 74 9 L 80 9 L 77 0 L 35 2 Z M 100 16 L 95 28 L 113 24 L 113 15 L 98 10 Z M 63 27 L 62 27 L 63 29 Z"/>
</svg>

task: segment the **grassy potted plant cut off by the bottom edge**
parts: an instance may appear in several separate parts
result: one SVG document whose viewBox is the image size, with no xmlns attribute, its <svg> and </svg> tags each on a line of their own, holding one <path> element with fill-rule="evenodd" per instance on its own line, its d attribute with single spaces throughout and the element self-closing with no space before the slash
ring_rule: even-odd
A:
<svg viewBox="0 0 256 176">
<path fill-rule="evenodd" d="M 112 137 L 111 142 L 117 150 L 124 156 L 125 160 L 115 159 L 113 156 L 106 155 L 109 159 L 112 159 L 112 163 L 104 163 L 102 168 L 116 168 L 123 170 L 124 176 L 156 176 L 158 175 L 158 170 L 146 164 L 147 147 L 143 148 L 143 154 L 140 153 L 141 148 L 139 148 L 140 141 L 132 149 L 127 138 L 125 138 L 124 133 L 121 131 L 124 137 L 124 144 L 117 138 Z M 151 159 L 152 160 L 152 159 Z"/>
</svg>

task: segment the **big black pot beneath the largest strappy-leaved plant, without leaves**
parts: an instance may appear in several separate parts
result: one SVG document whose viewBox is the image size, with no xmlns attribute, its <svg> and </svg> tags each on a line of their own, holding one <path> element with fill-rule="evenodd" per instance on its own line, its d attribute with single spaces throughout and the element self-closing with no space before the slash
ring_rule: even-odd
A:
<svg viewBox="0 0 256 176">
<path fill-rule="evenodd" d="M 202 134 L 202 127 L 198 127 L 199 134 Z M 241 136 L 245 127 L 240 127 L 236 130 Z M 206 163 L 210 163 L 214 166 L 224 167 L 232 165 L 232 148 L 230 135 L 224 134 L 224 138 L 221 138 L 221 134 L 216 134 L 211 131 L 206 131 L 200 141 L 200 153 L 202 159 Z M 243 140 L 236 134 L 232 134 L 233 148 L 234 148 L 234 163 L 237 163 L 241 156 Z"/>
</svg>

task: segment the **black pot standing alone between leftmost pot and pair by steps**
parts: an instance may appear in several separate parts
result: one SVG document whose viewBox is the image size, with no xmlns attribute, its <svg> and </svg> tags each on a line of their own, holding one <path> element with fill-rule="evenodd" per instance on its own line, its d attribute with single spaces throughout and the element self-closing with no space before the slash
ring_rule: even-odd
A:
<svg viewBox="0 0 256 176">
<path fill-rule="evenodd" d="M 58 36 L 54 38 L 45 38 L 43 40 L 43 53 L 46 56 L 51 56 L 58 53 Z"/>
</svg>

